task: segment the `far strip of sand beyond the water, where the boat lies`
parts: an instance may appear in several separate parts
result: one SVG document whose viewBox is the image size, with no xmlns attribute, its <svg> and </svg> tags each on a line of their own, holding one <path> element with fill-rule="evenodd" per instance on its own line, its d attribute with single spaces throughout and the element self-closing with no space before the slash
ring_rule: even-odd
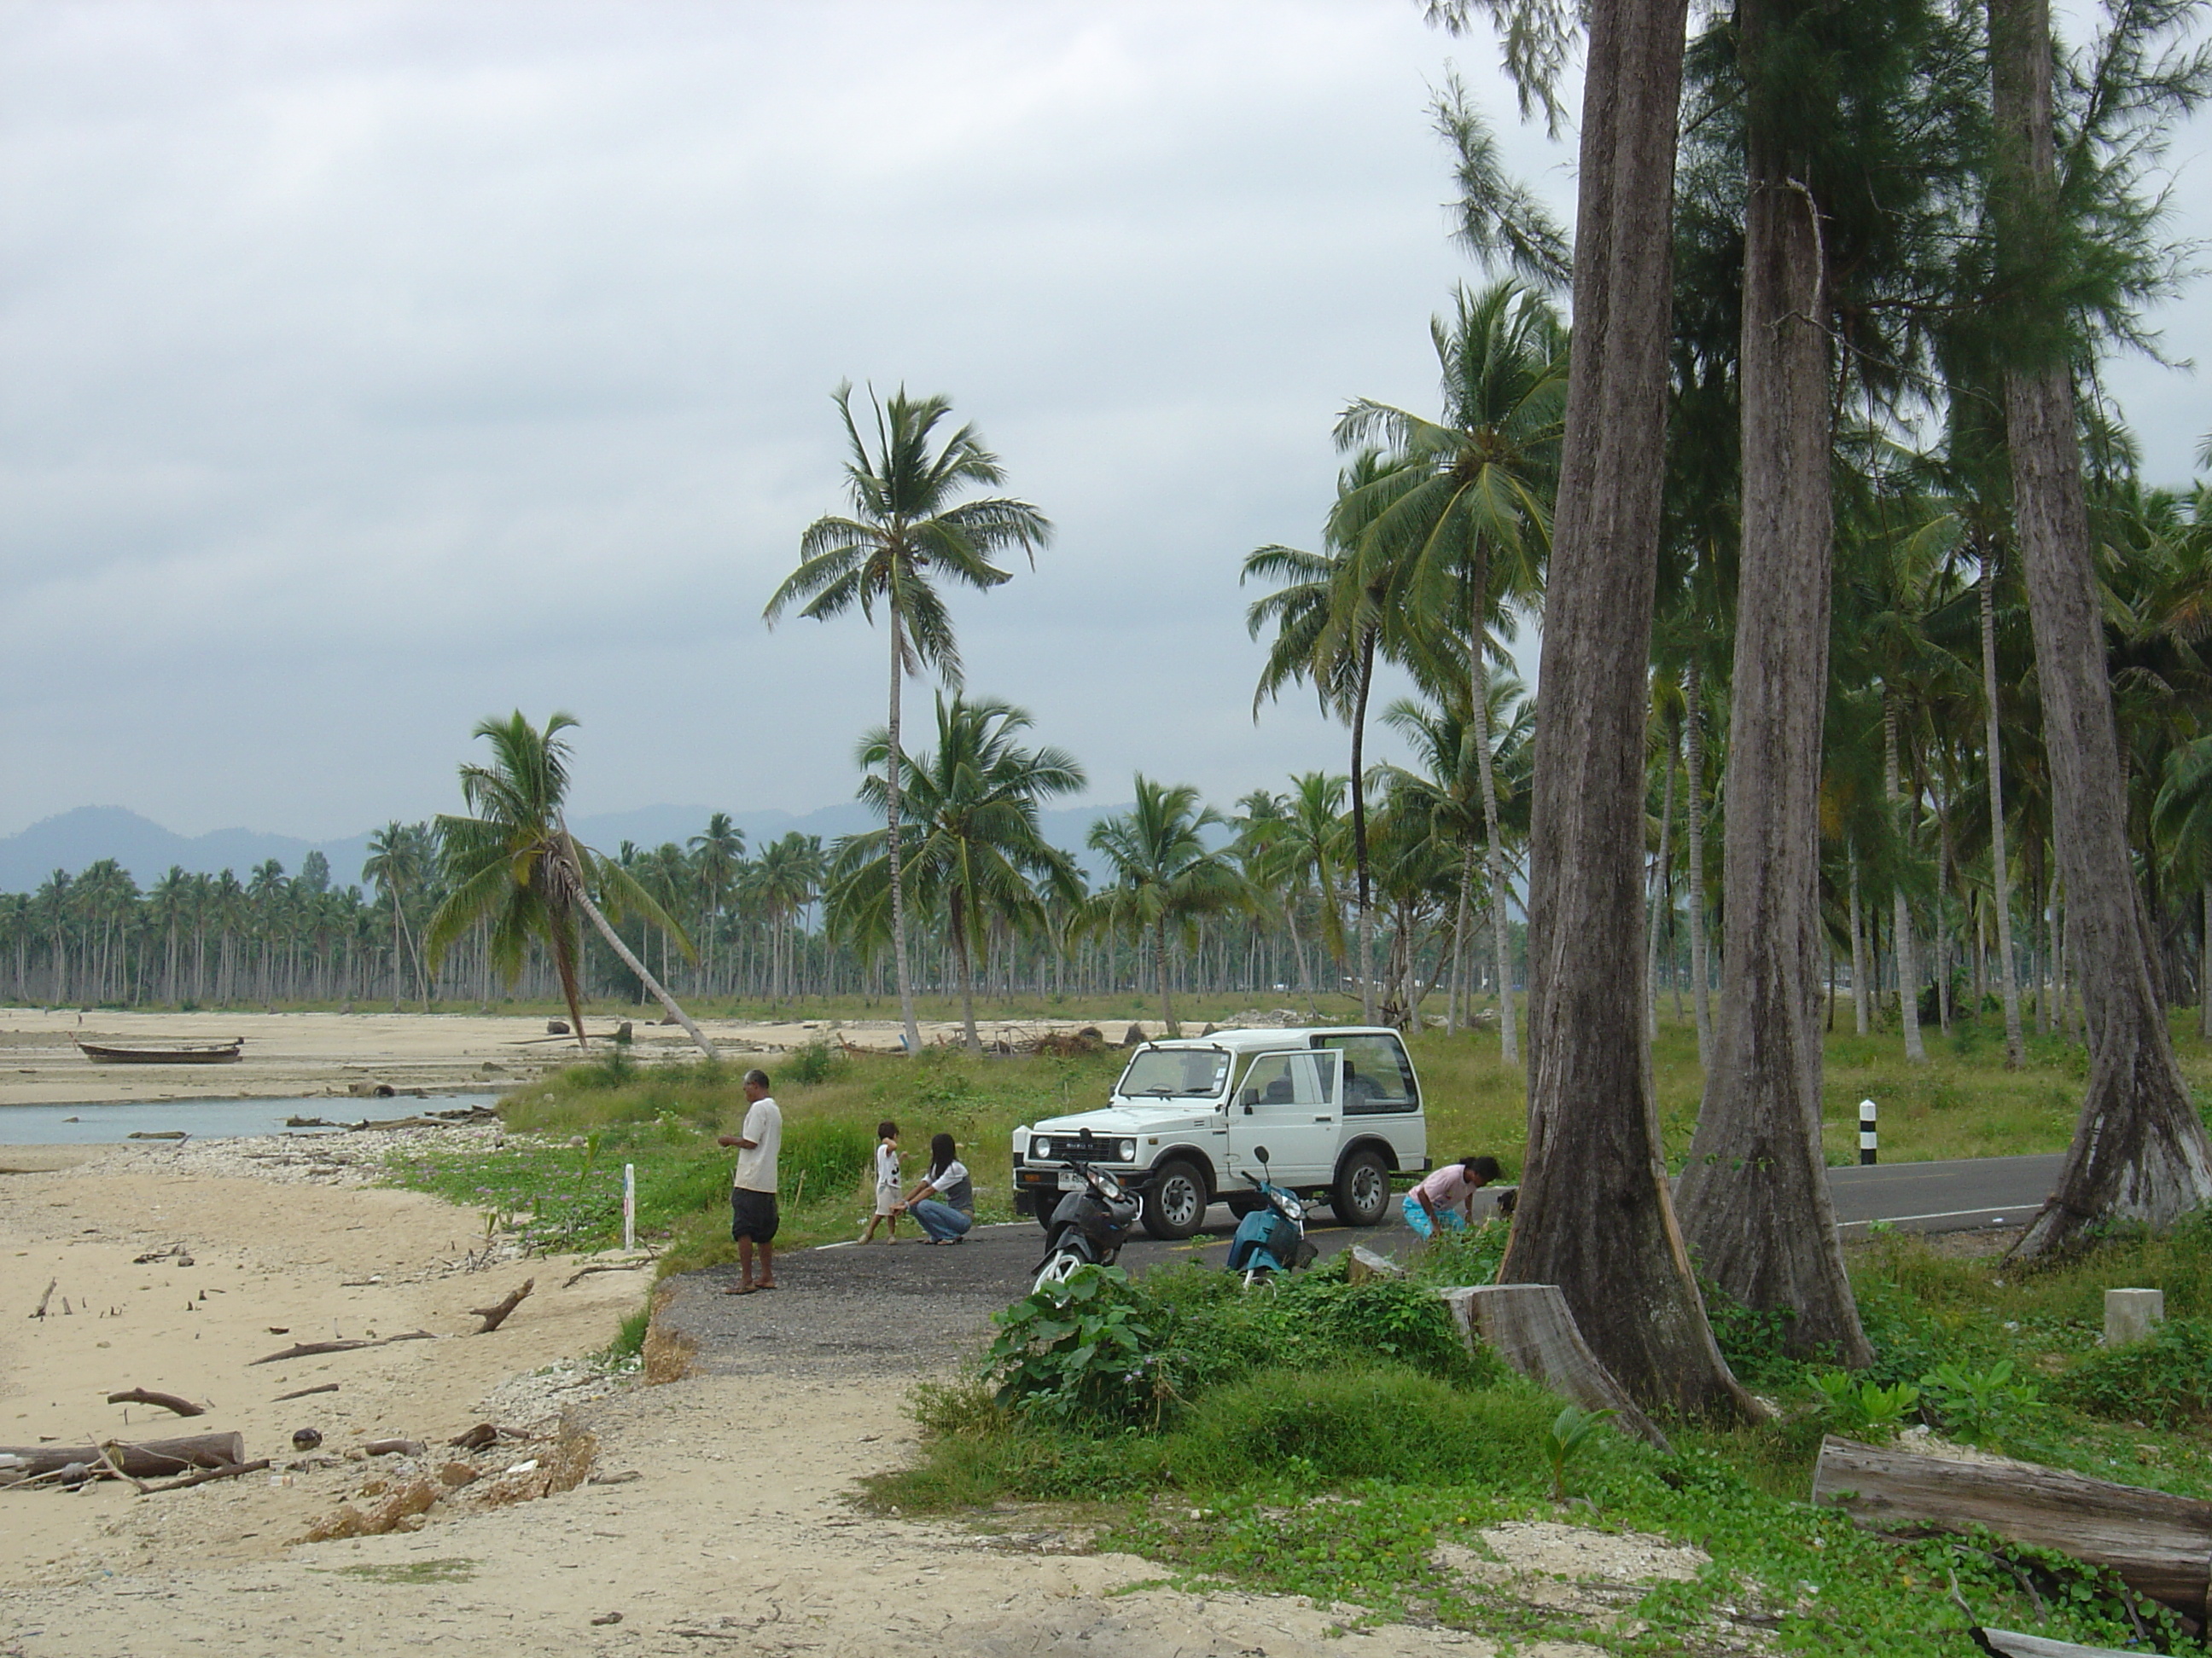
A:
<svg viewBox="0 0 2212 1658">
<path fill-rule="evenodd" d="M 657 1010 L 655 1010 L 657 1012 Z M 984 1041 L 1024 1041 L 1075 1030 L 1082 1019 L 978 1026 Z M 613 1019 L 586 1026 L 595 1039 Z M 896 1019 L 703 1019 L 728 1054 L 779 1054 L 814 1041 L 891 1052 Z M 1119 1032 L 1117 1032 L 1119 1035 Z M 77 1041 L 159 1048 L 243 1037 L 234 1066 L 115 1066 L 77 1052 Z M 958 1041 L 958 1024 L 925 1024 L 922 1041 Z M 633 1052 L 690 1059 L 681 1026 L 633 1019 Z M 542 1017 L 471 1012 L 117 1012 L 0 1008 L 0 1105 L 95 1105 L 155 1099 L 343 1099 L 363 1090 L 453 1094 L 509 1088 L 573 1061 L 573 1037 L 549 1037 Z"/>
</svg>

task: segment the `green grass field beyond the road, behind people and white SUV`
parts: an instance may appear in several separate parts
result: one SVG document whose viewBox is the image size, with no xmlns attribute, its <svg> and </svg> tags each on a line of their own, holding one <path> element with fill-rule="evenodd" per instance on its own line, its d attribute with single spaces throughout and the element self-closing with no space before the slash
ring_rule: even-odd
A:
<svg viewBox="0 0 2212 1658">
<path fill-rule="evenodd" d="M 1210 1006 L 1221 1001 L 1223 1006 Z M 1234 1012 L 1232 997 L 1192 999 L 1190 1030 L 1208 1015 Z M 1340 999 L 1338 999 L 1340 1001 Z M 1097 1021 L 1108 1035 L 1106 1001 L 1053 1012 Z M 1042 1010 L 1040 1008 L 1033 1008 Z M 810 1008 L 810 1012 L 825 1012 Z M 1144 1015 L 1144 1008 L 1130 1008 Z M 1329 1015 L 1349 1017 L 1332 1004 Z M 1843 1010 L 1838 1024 L 1849 1021 Z M 2212 1052 L 2179 1012 L 2177 1050 L 2192 1085 L 2212 1085 Z M 1433 1158 L 1491 1152 L 1517 1174 L 1526 1143 L 1520 1068 L 1498 1059 L 1495 1032 L 1425 1030 L 1411 1039 L 1429 1110 Z M 902 1127 L 914 1167 L 929 1136 L 953 1134 L 978 1172 L 978 1218 L 1011 1216 L 1006 1134 L 1106 1101 L 1121 1054 L 1088 1059 L 969 1059 L 931 1050 L 920 1061 L 894 1054 L 801 1050 L 765 1061 L 785 1108 L 783 1200 L 794 1245 L 825 1242 L 860 1227 L 869 1207 L 869 1150 L 876 1121 Z M 2024 1070 L 2004 1068 L 2002 1035 L 1960 1026 L 1929 1032 L 1929 1061 L 1907 1066 L 1893 1035 L 1834 1035 L 1827 1043 L 1825 1138 L 1829 1163 L 1858 1161 L 1858 1101 L 1882 1108 L 1882 1158 L 1911 1163 L 1949 1156 L 2002 1156 L 2064 1150 L 2079 1105 L 2084 1050 L 2057 1037 L 2031 1041 Z M 622 1050 L 571 1066 L 507 1094 L 511 1136 L 498 1152 L 465 1158 L 396 1158 L 389 1176 L 436 1192 L 513 1227 L 542 1249 L 602 1249 L 619 1238 L 622 1165 L 639 1178 L 639 1229 L 681 1271 L 730 1258 L 721 1236 L 730 1152 L 714 1136 L 743 1121 L 737 1079 L 743 1063 L 644 1063 Z M 1703 1072 L 1688 1024 L 1661 1021 L 1652 1074 L 1668 1154 L 1679 1165 L 1697 1125 Z"/>
</svg>

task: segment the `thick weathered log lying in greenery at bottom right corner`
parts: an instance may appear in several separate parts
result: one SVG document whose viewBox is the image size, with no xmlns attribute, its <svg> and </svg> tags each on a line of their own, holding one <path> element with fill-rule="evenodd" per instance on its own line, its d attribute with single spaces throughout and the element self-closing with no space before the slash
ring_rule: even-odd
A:
<svg viewBox="0 0 2212 1658">
<path fill-rule="evenodd" d="M 1951 1461 L 1829 1435 L 1812 1499 L 1869 1525 L 1982 1525 L 2013 1543 L 2110 1567 L 2137 1594 L 2205 1620 L 2212 1503 L 2006 1461 Z"/>
</svg>

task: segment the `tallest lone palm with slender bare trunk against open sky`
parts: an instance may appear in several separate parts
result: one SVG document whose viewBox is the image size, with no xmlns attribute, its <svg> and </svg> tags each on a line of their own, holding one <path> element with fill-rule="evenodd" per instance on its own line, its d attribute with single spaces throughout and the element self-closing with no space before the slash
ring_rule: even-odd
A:
<svg viewBox="0 0 2212 1658">
<path fill-rule="evenodd" d="M 907 1028 L 907 1052 L 918 1054 L 922 1030 L 914 1019 L 914 973 L 907 964 L 905 849 L 900 844 L 900 747 L 898 703 L 909 674 L 936 668 L 960 688 L 960 648 L 951 615 L 933 586 L 936 577 L 991 590 L 1013 577 L 991 564 L 1006 548 L 1020 548 L 1035 566 L 1037 548 L 1053 526 L 1029 502 L 1004 495 L 956 500 L 978 484 L 1006 478 L 998 455 L 982 444 L 975 427 L 960 427 L 931 449 L 931 433 L 951 413 L 951 400 L 909 398 L 900 387 L 889 405 L 876 402 L 874 449 L 852 418 L 852 382 L 836 389 L 836 411 L 845 422 L 852 455 L 845 489 L 852 517 L 818 517 L 799 537 L 799 568 L 768 601 L 768 623 L 792 604 L 816 621 L 845 615 L 876 619 L 880 604 L 891 623 L 891 716 L 885 760 L 885 853 L 891 875 L 891 957 L 898 970 L 898 1017 Z M 803 601 L 803 604 L 801 604 Z"/>
</svg>

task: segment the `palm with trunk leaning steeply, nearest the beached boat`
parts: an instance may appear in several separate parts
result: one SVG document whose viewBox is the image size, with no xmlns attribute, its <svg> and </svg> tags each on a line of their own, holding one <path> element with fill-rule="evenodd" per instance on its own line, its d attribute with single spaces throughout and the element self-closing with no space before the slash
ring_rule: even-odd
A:
<svg viewBox="0 0 2212 1658">
<path fill-rule="evenodd" d="M 568 714 L 555 714 L 540 732 L 520 710 L 509 718 L 478 721 L 473 736 L 491 743 L 491 765 L 460 767 L 460 796 L 473 816 L 438 818 L 445 844 L 445 869 L 451 893 L 429 917 L 429 957 L 445 959 L 453 940 L 476 922 L 489 922 L 487 948 L 491 964 L 513 984 L 531 942 L 546 946 L 575 1041 L 584 1046 L 584 1008 L 577 995 L 577 957 L 582 937 L 577 920 L 588 920 L 606 946 L 622 957 L 668 1008 L 668 1015 L 690 1032 L 699 1052 L 721 1059 L 706 1032 L 661 988 L 644 962 L 622 942 L 593 891 L 619 920 L 624 911 L 670 933 L 690 953 L 690 940 L 653 895 L 622 864 L 577 844 L 562 818 L 568 796 L 568 745 L 562 732 L 575 725 Z"/>
</svg>

